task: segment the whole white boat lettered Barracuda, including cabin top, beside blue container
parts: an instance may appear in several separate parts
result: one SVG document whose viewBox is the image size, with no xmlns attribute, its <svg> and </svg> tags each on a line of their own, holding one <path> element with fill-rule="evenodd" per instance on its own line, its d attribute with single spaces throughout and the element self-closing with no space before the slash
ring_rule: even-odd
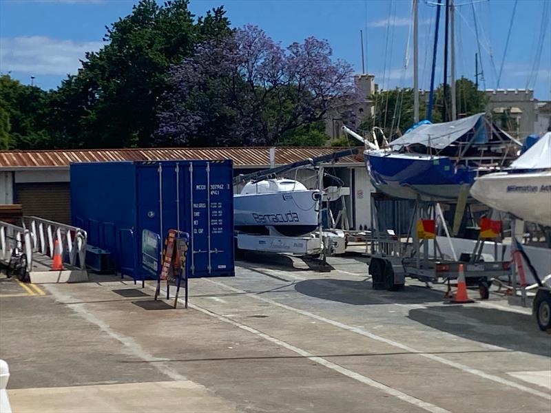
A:
<svg viewBox="0 0 551 413">
<path fill-rule="evenodd" d="M 306 235 L 318 228 L 319 199 L 320 191 L 295 180 L 247 182 L 233 195 L 233 226 L 259 235 Z"/>
</svg>

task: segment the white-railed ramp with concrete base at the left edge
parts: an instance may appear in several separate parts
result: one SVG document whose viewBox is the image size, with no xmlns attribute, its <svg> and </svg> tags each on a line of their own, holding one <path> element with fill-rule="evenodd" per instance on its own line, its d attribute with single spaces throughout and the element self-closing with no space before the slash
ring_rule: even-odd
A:
<svg viewBox="0 0 551 413">
<path fill-rule="evenodd" d="M 38 217 L 23 217 L 22 226 L 0 221 L 0 264 L 33 284 L 87 281 L 86 242 L 76 226 Z M 61 270 L 52 270 L 55 253 Z"/>
</svg>

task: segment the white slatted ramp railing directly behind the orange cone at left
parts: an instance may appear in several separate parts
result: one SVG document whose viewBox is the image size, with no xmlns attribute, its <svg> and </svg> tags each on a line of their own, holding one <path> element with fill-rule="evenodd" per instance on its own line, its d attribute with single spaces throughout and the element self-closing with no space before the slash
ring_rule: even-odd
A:
<svg viewBox="0 0 551 413">
<path fill-rule="evenodd" d="M 71 266 L 86 269 L 87 233 L 76 226 L 61 224 L 38 217 L 23 217 L 23 226 L 30 231 L 32 251 L 54 257 L 55 242 L 58 242 L 61 258 Z"/>
</svg>

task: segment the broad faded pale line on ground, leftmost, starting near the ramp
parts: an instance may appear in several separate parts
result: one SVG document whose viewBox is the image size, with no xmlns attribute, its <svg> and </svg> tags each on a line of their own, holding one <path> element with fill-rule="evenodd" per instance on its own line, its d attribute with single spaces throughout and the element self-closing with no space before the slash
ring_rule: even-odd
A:
<svg viewBox="0 0 551 413">
<path fill-rule="evenodd" d="M 74 301 L 73 297 L 65 293 L 62 293 L 59 290 L 59 287 L 55 285 L 47 285 L 45 286 L 45 288 L 48 291 L 50 291 L 50 293 L 54 296 L 54 298 L 58 302 L 67 303 L 70 301 Z M 65 304 L 65 305 L 69 307 L 71 310 L 73 310 L 76 314 L 81 316 L 83 319 L 88 321 L 89 323 L 95 324 L 96 326 L 98 326 L 98 328 L 100 328 L 100 330 L 105 332 L 105 334 L 112 337 L 116 341 L 119 341 L 120 343 L 122 343 L 123 346 L 125 346 L 125 348 L 128 350 L 129 354 L 132 354 L 134 357 L 138 357 L 143 361 L 149 361 L 149 362 L 154 361 L 155 363 L 152 363 L 152 366 L 155 366 L 155 368 L 159 372 L 165 374 L 167 377 L 170 377 L 174 381 L 187 380 L 185 376 L 176 372 L 176 370 L 174 370 L 173 368 L 167 365 L 166 362 L 168 361 L 168 359 L 161 359 L 159 357 L 154 357 L 152 354 L 144 350 L 142 346 L 140 346 L 140 344 L 136 343 L 136 341 L 134 341 L 132 337 L 125 336 L 120 332 L 113 330 L 109 326 L 109 324 L 103 321 L 103 319 L 100 319 L 95 315 L 93 315 L 92 313 L 90 313 L 90 311 L 88 311 L 85 308 L 84 304 Z"/>
</svg>

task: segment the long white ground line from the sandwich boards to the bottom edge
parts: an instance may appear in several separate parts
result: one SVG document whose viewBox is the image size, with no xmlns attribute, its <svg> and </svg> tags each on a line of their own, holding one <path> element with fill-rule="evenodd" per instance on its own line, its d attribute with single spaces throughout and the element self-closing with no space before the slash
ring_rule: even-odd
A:
<svg viewBox="0 0 551 413">
<path fill-rule="evenodd" d="M 148 288 L 154 289 L 152 286 L 147 286 Z M 161 293 L 166 293 L 166 291 L 163 291 L 163 288 L 161 288 Z M 185 300 L 178 299 L 179 302 L 185 303 Z M 233 326 L 236 326 L 242 330 L 245 330 L 247 332 L 251 332 L 253 335 L 256 335 L 258 337 L 261 337 L 264 340 L 271 341 L 271 343 L 277 344 L 278 346 L 287 348 L 287 350 L 291 350 L 292 352 L 295 352 L 299 354 L 302 357 L 306 357 L 307 359 L 320 364 L 321 366 L 324 366 L 326 368 L 329 368 L 331 370 L 334 370 L 335 372 L 339 372 L 340 374 L 349 377 L 351 379 L 354 379 L 356 381 L 360 381 L 360 383 L 364 383 L 366 385 L 369 385 L 373 388 L 376 388 L 377 390 L 380 390 L 388 395 L 395 396 L 397 399 L 400 399 L 402 401 L 405 401 L 406 403 L 410 403 L 411 405 L 415 405 L 416 407 L 419 407 L 423 410 L 426 410 L 427 412 L 433 412 L 433 413 L 451 413 L 449 410 L 446 410 L 442 407 L 439 407 L 437 405 L 433 405 L 432 403 L 428 403 L 426 401 L 423 401 L 421 399 L 417 399 L 417 397 L 410 396 L 409 394 L 406 394 L 404 392 L 401 392 L 395 388 L 392 388 L 388 385 L 385 385 L 383 383 L 380 383 L 379 381 L 375 381 L 373 379 L 370 379 L 369 377 L 364 376 L 363 374 L 357 373 L 353 370 L 349 370 L 347 368 L 344 368 L 342 366 L 339 366 L 336 363 L 333 363 L 327 359 L 324 359 L 323 357 L 317 357 L 310 352 L 307 352 L 306 350 L 303 350 L 302 348 L 298 348 L 296 346 L 293 346 L 292 344 L 287 343 L 286 341 L 282 341 L 280 339 L 277 339 L 275 337 L 272 337 L 271 335 L 267 335 L 264 332 L 261 332 L 260 330 L 257 330 L 256 328 L 249 327 L 245 324 L 241 324 L 238 321 L 235 321 L 233 319 L 230 319 L 228 317 L 225 317 L 223 315 L 220 315 L 218 313 L 214 313 L 214 311 L 208 310 L 207 308 L 203 308 L 201 306 L 197 306 L 196 304 L 192 304 L 188 302 L 188 306 L 190 308 L 193 308 L 194 310 L 199 311 L 200 313 L 209 315 L 211 317 L 214 317 L 220 321 L 224 321 L 225 323 L 232 324 Z"/>
</svg>

